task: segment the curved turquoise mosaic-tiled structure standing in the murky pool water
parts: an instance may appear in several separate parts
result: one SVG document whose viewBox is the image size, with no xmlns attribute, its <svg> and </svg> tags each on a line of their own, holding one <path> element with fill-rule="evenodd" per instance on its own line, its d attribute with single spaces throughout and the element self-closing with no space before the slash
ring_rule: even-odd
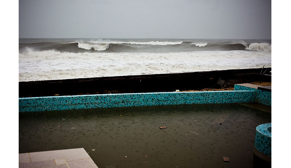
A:
<svg viewBox="0 0 291 168">
<path fill-rule="evenodd" d="M 255 148 L 271 157 L 271 126 L 272 123 L 261 124 L 256 128 Z"/>
</svg>

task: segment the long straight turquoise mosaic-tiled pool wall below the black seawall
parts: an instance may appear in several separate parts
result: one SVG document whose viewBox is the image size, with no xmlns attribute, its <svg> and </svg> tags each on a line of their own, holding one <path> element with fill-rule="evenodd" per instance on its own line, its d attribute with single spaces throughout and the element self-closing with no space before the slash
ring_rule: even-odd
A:
<svg viewBox="0 0 291 168">
<path fill-rule="evenodd" d="M 175 104 L 254 102 L 255 91 L 160 92 L 19 98 L 19 112 Z"/>
</svg>

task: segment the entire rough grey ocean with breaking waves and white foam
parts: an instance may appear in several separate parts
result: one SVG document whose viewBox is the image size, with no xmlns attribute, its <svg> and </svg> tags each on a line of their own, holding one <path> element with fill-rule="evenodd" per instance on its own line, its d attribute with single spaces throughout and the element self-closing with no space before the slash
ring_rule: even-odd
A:
<svg viewBox="0 0 291 168">
<path fill-rule="evenodd" d="M 271 39 L 19 38 L 19 82 L 271 67 Z"/>
</svg>

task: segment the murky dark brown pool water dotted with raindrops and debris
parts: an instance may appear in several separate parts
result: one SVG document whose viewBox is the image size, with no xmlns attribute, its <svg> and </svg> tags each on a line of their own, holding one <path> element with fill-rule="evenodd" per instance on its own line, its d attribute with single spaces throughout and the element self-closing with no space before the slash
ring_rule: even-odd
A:
<svg viewBox="0 0 291 168">
<path fill-rule="evenodd" d="M 255 128 L 268 122 L 241 104 L 19 113 L 19 153 L 84 148 L 99 168 L 270 167 L 253 155 Z"/>
</svg>

